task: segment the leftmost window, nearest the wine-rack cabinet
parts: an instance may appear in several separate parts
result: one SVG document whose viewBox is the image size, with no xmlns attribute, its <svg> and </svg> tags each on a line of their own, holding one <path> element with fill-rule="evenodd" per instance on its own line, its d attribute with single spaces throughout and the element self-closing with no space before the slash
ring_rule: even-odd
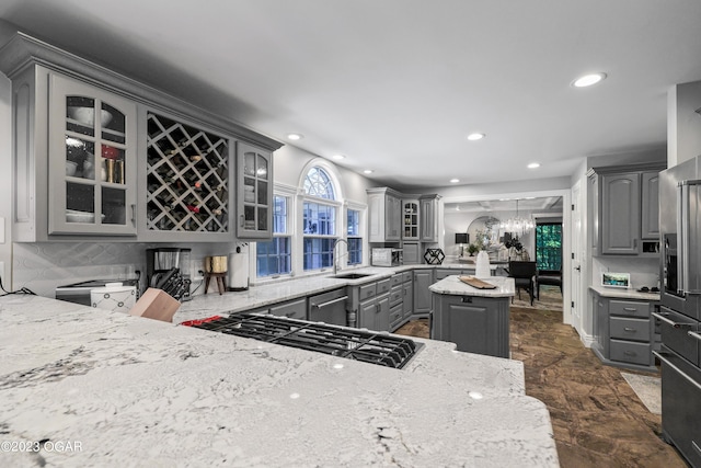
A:
<svg viewBox="0 0 701 468">
<path fill-rule="evenodd" d="M 288 212 L 289 198 L 275 195 L 273 239 L 266 242 L 257 242 L 255 249 L 255 270 L 258 277 L 289 274 L 292 271 L 292 241 L 288 231 Z"/>
</svg>

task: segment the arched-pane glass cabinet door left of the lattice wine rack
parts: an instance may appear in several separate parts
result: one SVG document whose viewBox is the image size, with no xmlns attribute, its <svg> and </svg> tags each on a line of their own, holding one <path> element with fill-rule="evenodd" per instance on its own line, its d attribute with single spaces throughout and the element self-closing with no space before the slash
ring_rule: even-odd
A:
<svg viewBox="0 0 701 468">
<path fill-rule="evenodd" d="M 51 75 L 49 235 L 136 236 L 136 104 Z"/>
</svg>

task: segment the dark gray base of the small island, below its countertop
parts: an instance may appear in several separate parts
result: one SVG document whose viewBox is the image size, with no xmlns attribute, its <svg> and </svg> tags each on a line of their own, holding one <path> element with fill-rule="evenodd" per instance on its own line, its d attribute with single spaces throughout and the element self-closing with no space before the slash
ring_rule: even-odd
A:
<svg viewBox="0 0 701 468">
<path fill-rule="evenodd" d="M 508 298 L 434 294 L 430 338 L 458 351 L 509 357 Z"/>
</svg>

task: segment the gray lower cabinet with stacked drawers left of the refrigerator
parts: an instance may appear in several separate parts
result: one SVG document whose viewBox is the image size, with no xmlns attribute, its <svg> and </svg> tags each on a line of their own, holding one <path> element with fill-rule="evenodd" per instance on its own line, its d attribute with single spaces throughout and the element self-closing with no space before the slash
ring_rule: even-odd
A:
<svg viewBox="0 0 701 468">
<path fill-rule="evenodd" d="M 594 293 L 594 353 L 605 364 L 656 370 L 654 347 L 655 303 L 604 297 Z"/>
</svg>

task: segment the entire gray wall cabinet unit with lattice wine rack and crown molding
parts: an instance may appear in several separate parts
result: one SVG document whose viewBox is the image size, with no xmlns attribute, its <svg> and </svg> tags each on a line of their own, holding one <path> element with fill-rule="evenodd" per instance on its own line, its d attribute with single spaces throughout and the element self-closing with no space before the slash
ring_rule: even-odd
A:
<svg viewBox="0 0 701 468">
<path fill-rule="evenodd" d="M 269 237 L 278 141 L 22 33 L 0 48 L 0 71 L 12 80 L 13 241 L 227 241 L 234 205 L 238 235 Z M 239 204 L 234 145 L 255 161 L 238 174 Z"/>
</svg>

